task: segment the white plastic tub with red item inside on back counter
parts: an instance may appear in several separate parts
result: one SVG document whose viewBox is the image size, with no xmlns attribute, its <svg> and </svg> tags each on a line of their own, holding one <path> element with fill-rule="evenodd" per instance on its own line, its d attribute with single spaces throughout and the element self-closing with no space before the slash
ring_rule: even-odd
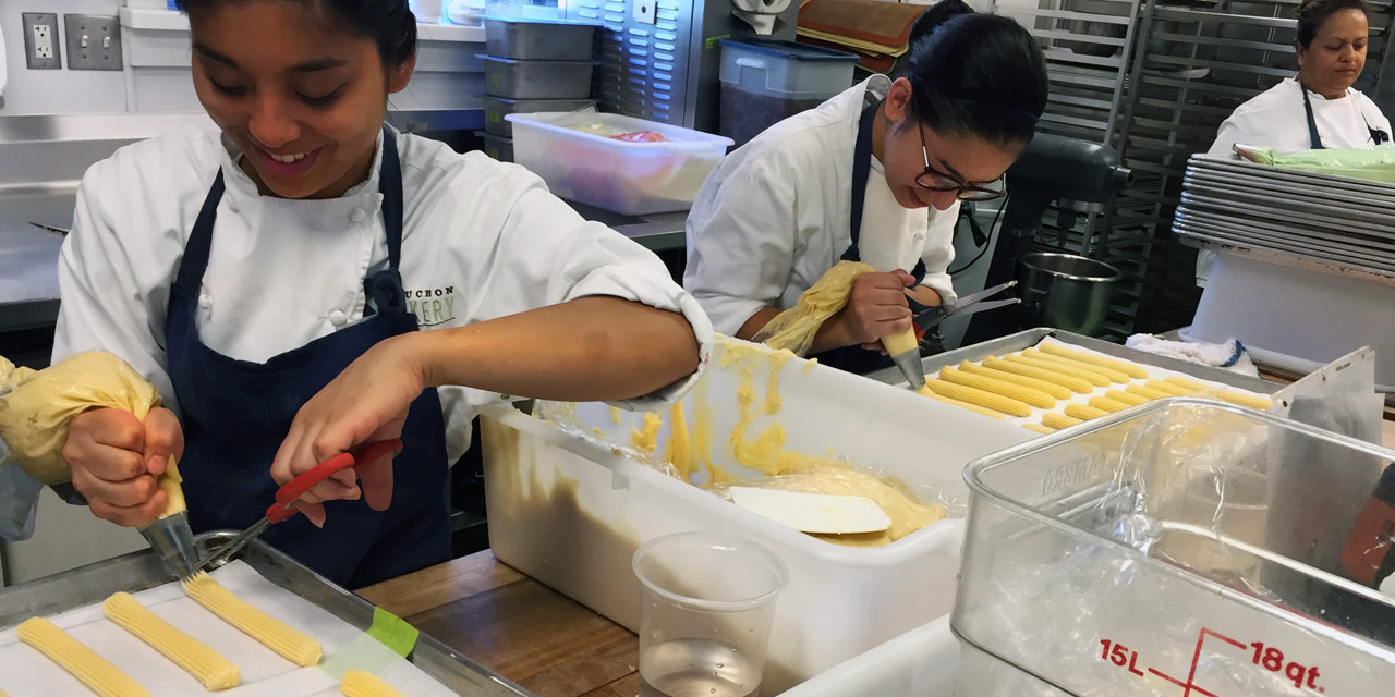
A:
<svg viewBox="0 0 1395 697">
<path fill-rule="evenodd" d="M 515 162 L 554 194 L 625 215 L 686 210 L 731 138 L 601 113 L 508 114 Z M 668 142 L 624 142 L 576 128 L 657 131 Z"/>
</svg>

